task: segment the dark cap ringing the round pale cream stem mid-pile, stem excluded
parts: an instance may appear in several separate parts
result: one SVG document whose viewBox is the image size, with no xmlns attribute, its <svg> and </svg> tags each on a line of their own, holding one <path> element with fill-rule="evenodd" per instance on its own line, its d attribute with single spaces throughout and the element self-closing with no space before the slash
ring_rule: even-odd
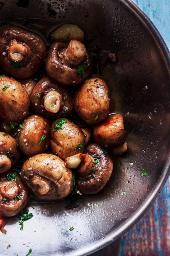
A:
<svg viewBox="0 0 170 256">
<path fill-rule="evenodd" d="M 57 113 L 48 112 L 44 109 L 44 97 L 51 91 L 58 92 L 62 98 L 61 107 Z M 68 116 L 71 114 L 73 109 L 71 93 L 48 77 L 42 78 L 36 84 L 30 96 L 30 100 L 33 111 L 38 115 L 49 118 L 50 120 L 54 120 L 59 116 Z"/>
</svg>

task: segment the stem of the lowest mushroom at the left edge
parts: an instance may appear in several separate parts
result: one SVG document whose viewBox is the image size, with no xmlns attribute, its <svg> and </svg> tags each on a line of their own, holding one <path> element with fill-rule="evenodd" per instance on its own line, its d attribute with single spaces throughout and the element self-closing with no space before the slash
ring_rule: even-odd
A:
<svg viewBox="0 0 170 256">
<path fill-rule="evenodd" d="M 14 180 L 5 181 L 0 186 L 0 193 L 9 199 L 13 199 L 19 191 L 18 183 Z"/>
</svg>

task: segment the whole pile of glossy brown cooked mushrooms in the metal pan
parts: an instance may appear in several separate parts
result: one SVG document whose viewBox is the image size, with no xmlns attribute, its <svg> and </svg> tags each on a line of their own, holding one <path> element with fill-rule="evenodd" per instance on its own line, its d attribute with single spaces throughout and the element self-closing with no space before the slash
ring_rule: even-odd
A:
<svg viewBox="0 0 170 256">
<path fill-rule="evenodd" d="M 0 31 L 0 68 L 5 72 L 0 76 L 3 232 L 4 217 L 19 213 L 29 193 L 46 201 L 66 198 L 75 190 L 98 193 L 113 171 L 108 150 L 114 155 L 127 150 L 123 116 L 109 115 L 107 83 L 88 78 L 93 60 L 83 43 L 84 32 L 63 24 L 49 40 L 47 49 L 41 37 L 21 27 Z M 43 65 L 47 74 L 37 81 L 33 75 Z M 74 115 L 80 122 L 72 122 Z"/>
</svg>

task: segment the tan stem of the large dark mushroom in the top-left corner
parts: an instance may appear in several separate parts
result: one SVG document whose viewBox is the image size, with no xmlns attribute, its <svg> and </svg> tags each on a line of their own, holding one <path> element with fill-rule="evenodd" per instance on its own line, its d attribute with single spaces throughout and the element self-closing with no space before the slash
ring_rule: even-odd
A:
<svg viewBox="0 0 170 256">
<path fill-rule="evenodd" d="M 13 40 L 8 49 L 8 58 L 15 62 L 27 62 L 30 58 L 30 49 L 26 44 Z"/>
</svg>

